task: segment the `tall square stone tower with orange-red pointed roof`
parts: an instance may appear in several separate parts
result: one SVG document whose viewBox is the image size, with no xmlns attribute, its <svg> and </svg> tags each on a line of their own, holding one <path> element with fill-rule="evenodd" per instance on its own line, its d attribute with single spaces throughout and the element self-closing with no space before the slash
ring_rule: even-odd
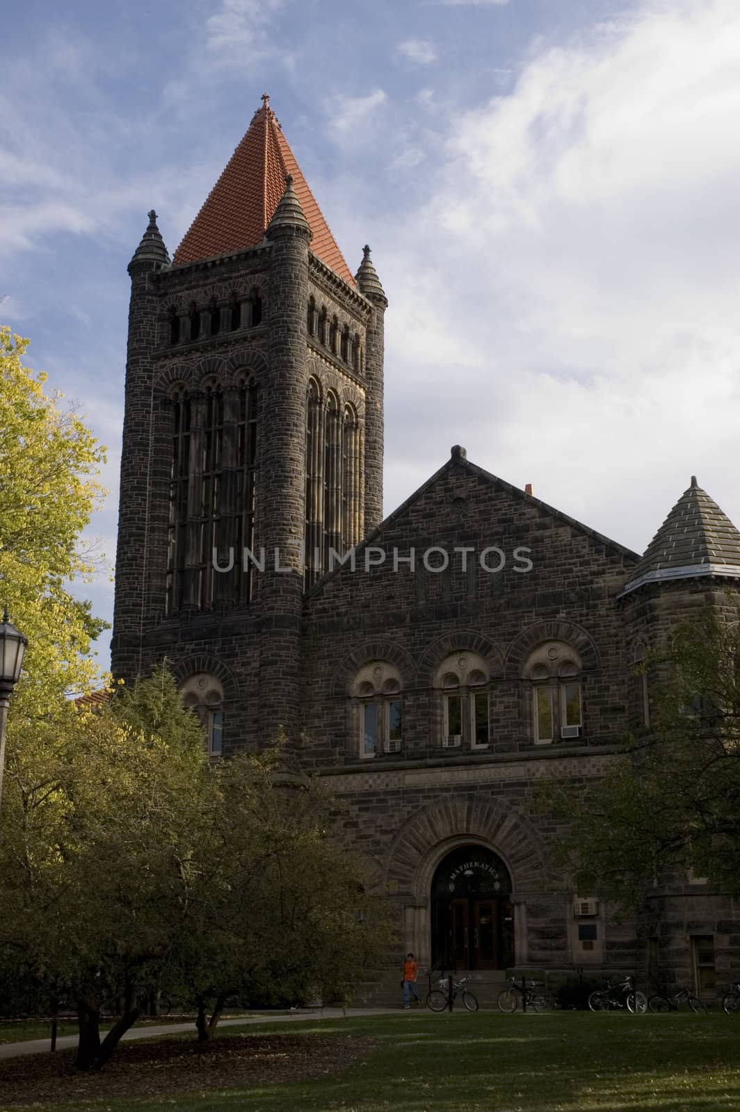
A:
<svg viewBox="0 0 740 1112">
<path fill-rule="evenodd" d="M 215 676 L 225 752 L 294 737 L 304 592 L 382 517 L 369 249 L 354 277 L 265 95 L 171 262 L 151 211 L 129 274 L 114 672 Z"/>
</svg>

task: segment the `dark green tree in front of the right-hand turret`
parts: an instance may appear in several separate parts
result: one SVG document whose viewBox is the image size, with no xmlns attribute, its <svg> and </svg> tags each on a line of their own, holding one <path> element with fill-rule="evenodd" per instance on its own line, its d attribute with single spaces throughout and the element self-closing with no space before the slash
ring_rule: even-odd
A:
<svg viewBox="0 0 740 1112">
<path fill-rule="evenodd" d="M 644 667 L 651 724 L 596 786 L 551 783 L 541 802 L 568 823 L 559 842 L 579 891 L 640 907 L 657 877 L 689 871 L 740 894 L 740 612 L 679 626 Z"/>
</svg>

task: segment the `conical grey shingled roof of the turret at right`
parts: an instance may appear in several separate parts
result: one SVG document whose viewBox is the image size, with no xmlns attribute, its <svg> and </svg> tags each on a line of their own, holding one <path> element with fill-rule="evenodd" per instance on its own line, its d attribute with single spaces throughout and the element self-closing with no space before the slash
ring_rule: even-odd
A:
<svg viewBox="0 0 740 1112">
<path fill-rule="evenodd" d="M 648 545 L 624 593 L 643 583 L 694 575 L 740 577 L 740 533 L 692 475 L 691 486 Z"/>
</svg>

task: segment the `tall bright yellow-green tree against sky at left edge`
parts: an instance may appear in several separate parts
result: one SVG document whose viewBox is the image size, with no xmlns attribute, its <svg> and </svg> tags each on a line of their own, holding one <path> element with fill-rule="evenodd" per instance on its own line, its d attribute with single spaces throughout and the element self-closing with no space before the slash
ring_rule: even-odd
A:
<svg viewBox="0 0 740 1112">
<path fill-rule="evenodd" d="M 22 363 L 29 341 L 0 328 L 0 608 L 29 638 L 9 728 L 96 679 L 87 658 L 105 623 L 69 584 L 95 570 L 79 538 L 105 492 L 105 449 L 73 406 Z"/>
</svg>

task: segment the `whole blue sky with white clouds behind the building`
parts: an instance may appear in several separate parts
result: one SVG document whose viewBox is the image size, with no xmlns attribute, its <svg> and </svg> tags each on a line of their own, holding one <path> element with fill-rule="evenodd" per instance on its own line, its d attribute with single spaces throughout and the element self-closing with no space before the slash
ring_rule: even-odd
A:
<svg viewBox="0 0 740 1112">
<path fill-rule="evenodd" d="M 460 443 L 639 550 L 691 474 L 740 524 L 737 0 L 28 0 L 3 39 L 0 317 L 109 446 L 111 558 L 126 266 L 263 91 L 388 295 L 386 512 Z"/>
</svg>

